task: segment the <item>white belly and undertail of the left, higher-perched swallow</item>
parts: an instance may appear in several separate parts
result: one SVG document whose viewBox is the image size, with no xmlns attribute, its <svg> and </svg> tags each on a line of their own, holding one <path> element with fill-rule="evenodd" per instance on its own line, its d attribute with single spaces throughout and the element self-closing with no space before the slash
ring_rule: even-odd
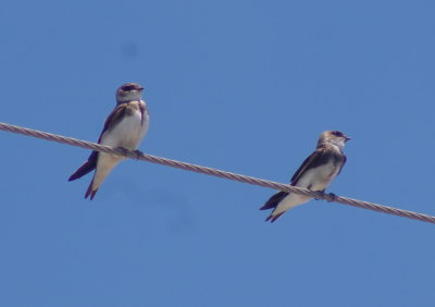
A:
<svg viewBox="0 0 435 307">
<path fill-rule="evenodd" d="M 137 111 L 133 115 L 125 116 L 116 126 L 104 133 L 101 137 L 101 144 L 135 150 L 147 133 L 148 125 L 148 113 L 146 112 L 144 114 L 144 123 L 141 123 L 141 113 Z M 113 168 L 123 159 L 124 158 L 110 154 L 99 152 L 97 170 L 94 175 L 92 191 L 98 189 Z"/>
</svg>

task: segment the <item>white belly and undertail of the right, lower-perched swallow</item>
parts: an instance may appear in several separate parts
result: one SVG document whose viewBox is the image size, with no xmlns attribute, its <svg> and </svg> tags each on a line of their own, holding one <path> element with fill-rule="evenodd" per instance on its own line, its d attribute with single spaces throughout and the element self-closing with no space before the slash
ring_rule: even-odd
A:
<svg viewBox="0 0 435 307">
<path fill-rule="evenodd" d="M 338 170 L 339 168 L 334 167 L 333 163 L 327 163 L 322 167 L 311 169 L 299 179 L 296 186 L 310 188 L 312 191 L 323 191 L 337 175 Z M 272 216 L 283 213 L 288 209 L 306 204 L 310 199 L 311 197 L 290 193 L 283 200 L 281 200 L 279 205 L 276 206 L 275 210 L 272 212 Z"/>
</svg>

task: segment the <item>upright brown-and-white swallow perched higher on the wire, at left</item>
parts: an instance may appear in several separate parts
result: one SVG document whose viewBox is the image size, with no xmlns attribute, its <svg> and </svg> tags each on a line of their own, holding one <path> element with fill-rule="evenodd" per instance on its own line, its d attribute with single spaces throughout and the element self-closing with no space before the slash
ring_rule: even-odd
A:
<svg viewBox="0 0 435 307">
<path fill-rule="evenodd" d="M 149 113 L 141 99 L 144 87 L 126 83 L 116 90 L 116 107 L 104 122 L 98 144 L 135 150 L 148 131 Z M 94 198 L 112 169 L 124 158 L 92 151 L 89 159 L 69 179 L 74 181 L 96 170 L 85 198 Z"/>
</svg>

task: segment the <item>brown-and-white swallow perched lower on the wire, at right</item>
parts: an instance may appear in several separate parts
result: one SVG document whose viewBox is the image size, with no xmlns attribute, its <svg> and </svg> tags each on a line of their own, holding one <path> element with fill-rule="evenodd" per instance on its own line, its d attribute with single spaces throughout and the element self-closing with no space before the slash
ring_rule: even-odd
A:
<svg viewBox="0 0 435 307">
<path fill-rule="evenodd" d="M 343 149 L 349 139 L 350 137 L 339 131 L 323 132 L 319 137 L 316 149 L 293 175 L 290 185 L 324 192 L 346 163 Z M 273 209 L 265 221 L 274 222 L 288 209 L 310 199 L 309 196 L 281 191 L 273 195 L 260 210 Z"/>
</svg>

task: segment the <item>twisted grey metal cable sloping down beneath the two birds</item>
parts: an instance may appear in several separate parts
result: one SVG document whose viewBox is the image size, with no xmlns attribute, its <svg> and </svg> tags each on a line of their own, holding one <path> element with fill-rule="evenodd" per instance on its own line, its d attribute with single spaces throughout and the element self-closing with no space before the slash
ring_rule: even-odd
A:
<svg viewBox="0 0 435 307">
<path fill-rule="evenodd" d="M 86 149 L 91 149 L 91 150 L 102 151 L 102 152 L 112 154 L 112 155 L 116 155 L 116 156 L 122 156 L 122 157 L 126 157 L 126 158 L 137 159 L 137 160 L 141 160 L 141 161 L 148 161 L 151 163 L 167 165 L 167 167 L 182 169 L 182 170 L 186 170 L 186 171 L 217 176 L 217 177 L 227 179 L 227 180 L 232 180 L 232 181 L 249 183 L 252 185 L 270 187 L 273 189 L 279 189 L 279 191 L 285 191 L 285 192 L 289 192 L 289 193 L 296 193 L 296 194 L 300 194 L 300 195 L 304 195 L 304 196 L 309 196 L 309 197 L 313 197 L 313 198 L 318 198 L 318 199 L 324 199 L 328 202 L 338 202 L 341 205 L 353 206 L 353 207 L 358 207 L 358 208 L 384 212 L 387 214 L 394 214 L 394 216 L 419 220 L 419 221 L 423 221 L 423 222 L 435 223 L 435 217 L 433 217 L 433 216 L 427 216 L 427 214 L 423 214 L 423 213 L 418 213 L 418 212 L 407 211 L 407 210 L 397 209 L 397 208 L 393 208 L 393 207 L 382 206 L 382 205 L 377 205 L 377 204 L 373 204 L 373 202 L 369 202 L 369 201 L 362 201 L 362 200 L 358 200 L 358 199 L 352 199 L 352 198 L 348 198 L 348 197 L 336 196 L 334 194 L 313 192 L 313 191 L 309 191 L 306 188 L 291 186 L 288 184 L 282 184 L 282 183 L 277 183 L 277 182 L 273 182 L 273 181 L 266 181 L 266 180 L 257 179 L 257 177 L 252 177 L 252 176 L 240 175 L 240 174 L 236 174 L 236 173 L 232 173 L 232 172 L 225 172 L 225 171 L 221 171 L 221 170 L 216 170 L 216 169 L 212 169 L 212 168 L 181 162 L 181 161 L 176 161 L 176 160 L 172 160 L 172 159 L 156 157 L 156 156 L 151 156 L 151 155 L 146 155 L 139 150 L 127 150 L 125 148 L 113 148 L 113 147 L 101 145 L 101 144 L 96 144 L 96 143 L 86 142 L 86 140 L 82 140 L 82 139 L 77 139 L 77 138 L 72 138 L 72 137 L 66 137 L 66 136 L 62 136 L 62 135 L 35 131 L 32 128 L 21 127 L 21 126 L 16 126 L 16 125 L 7 124 L 7 123 L 0 123 L 0 130 L 16 133 L 16 134 L 23 134 L 26 136 L 33 136 L 36 138 L 47 139 L 50 142 L 57 142 L 57 143 L 67 144 L 71 146 L 76 146 L 76 147 L 82 147 L 82 148 L 86 148 Z"/>
</svg>

